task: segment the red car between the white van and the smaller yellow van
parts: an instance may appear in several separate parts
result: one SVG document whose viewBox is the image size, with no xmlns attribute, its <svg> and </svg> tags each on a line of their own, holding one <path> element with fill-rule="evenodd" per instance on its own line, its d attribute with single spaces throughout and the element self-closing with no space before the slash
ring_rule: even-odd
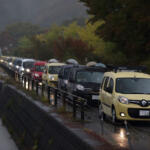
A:
<svg viewBox="0 0 150 150">
<path fill-rule="evenodd" d="M 34 63 L 34 68 L 32 69 L 32 79 L 38 80 L 39 82 L 42 82 L 42 74 L 45 68 L 45 61 L 36 61 Z"/>
</svg>

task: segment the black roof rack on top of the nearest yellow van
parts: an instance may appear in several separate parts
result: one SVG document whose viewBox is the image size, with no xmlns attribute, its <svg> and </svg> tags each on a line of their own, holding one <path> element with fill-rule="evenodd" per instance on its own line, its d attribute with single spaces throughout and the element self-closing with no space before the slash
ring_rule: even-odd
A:
<svg viewBox="0 0 150 150">
<path fill-rule="evenodd" d="M 129 72 L 146 72 L 146 66 L 107 66 L 110 71 L 121 72 L 121 71 L 129 71 Z"/>
</svg>

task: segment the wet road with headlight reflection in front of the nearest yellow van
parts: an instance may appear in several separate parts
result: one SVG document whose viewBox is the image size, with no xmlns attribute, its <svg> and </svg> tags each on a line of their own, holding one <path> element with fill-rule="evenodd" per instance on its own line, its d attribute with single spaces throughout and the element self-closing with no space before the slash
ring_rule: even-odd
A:
<svg viewBox="0 0 150 150">
<path fill-rule="evenodd" d="M 109 118 L 100 120 L 95 108 L 86 112 L 86 117 L 90 122 L 84 127 L 95 131 L 109 143 L 124 149 L 150 150 L 150 122 L 128 122 L 127 129 L 123 123 L 114 126 Z"/>
</svg>

